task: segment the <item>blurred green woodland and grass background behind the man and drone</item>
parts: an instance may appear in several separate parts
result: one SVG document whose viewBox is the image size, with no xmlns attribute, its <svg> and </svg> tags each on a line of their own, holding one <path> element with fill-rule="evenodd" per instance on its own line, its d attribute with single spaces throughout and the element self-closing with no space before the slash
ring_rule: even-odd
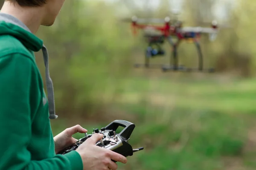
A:
<svg viewBox="0 0 256 170">
<path fill-rule="evenodd" d="M 54 135 L 123 119 L 136 125 L 129 143 L 144 150 L 119 170 L 254 170 L 255 9 L 255 0 L 66 0 L 55 24 L 37 33 L 49 50 Z M 184 26 L 231 26 L 213 42 L 201 37 L 204 67 L 215 73 L 134 68 L 148 44 L 122 18 L 172 18 L 173 11 Z M 163 47 L 152 63 L 169 64 L 172 48 Z M 194 44 L 183 41 L 178 53 L 180 64 L 197 67 Z M 44 78 L 41 51 L 36 56 Z"/>
</svg>

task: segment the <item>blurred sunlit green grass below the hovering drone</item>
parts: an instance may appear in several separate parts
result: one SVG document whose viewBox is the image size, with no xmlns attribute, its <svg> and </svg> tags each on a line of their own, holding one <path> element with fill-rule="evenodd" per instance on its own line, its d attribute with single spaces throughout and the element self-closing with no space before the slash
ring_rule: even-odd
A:
<svg viewBox="0 0 256 170">
<path fill-rule="evenodd" d="M 256 123 L 255 87 L 255 79 L 119 80 L 109 108 L 135 123 L 129 142 L 145 148 L 127 164 L 119 164 L 119 170 L 255 169 L 256 132 L 251 130 Z M 103 96 L 113 96 L 107 89 L 105 85 Z M 103 99 L 102 91 L 95 93 L 95 99 Z M 54 134 L 71 125 L 63 121 L 52 122 Z M 82 122 L 89 132 L 110 123 L 97 119 L 89 123 L 86 116 Z"/>
</svg>

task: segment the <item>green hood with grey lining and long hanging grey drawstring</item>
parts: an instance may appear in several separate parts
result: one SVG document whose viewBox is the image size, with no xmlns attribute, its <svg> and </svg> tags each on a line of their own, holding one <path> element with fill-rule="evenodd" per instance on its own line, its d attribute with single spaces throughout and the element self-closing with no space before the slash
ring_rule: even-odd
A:
<svg viewBox="0 0 256 170">
<path fill-rule="evenodd" d="M 17 38 L 31 51 L 38 52 L 42 49 L 49 103 L 49 119 L 56 119 L 58 116 L 55 114 L 54 91 L 52 79 L 49 74 L 49 57 L 43 41 L 32 34 L 29 28 L 27 28 L 20 20 L 5 13 L 0 13 L 0 35 L 11 35 Z"/>
</svg>

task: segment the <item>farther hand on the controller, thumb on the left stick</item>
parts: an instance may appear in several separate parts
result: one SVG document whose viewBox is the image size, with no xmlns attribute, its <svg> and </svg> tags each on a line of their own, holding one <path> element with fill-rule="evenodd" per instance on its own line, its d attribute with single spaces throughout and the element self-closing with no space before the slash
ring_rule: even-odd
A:
<svg viewBox="0 0 256 170">
<path fill-rule="evenodd" d="M 55 153 L 57 154 L 59 151 L 64 148 L 76 143 L 78 140 L 73 138 L 72 135 L 75 133 L 86 133 L 87 130 L 81 127 L 80 125 L 76 125 L 70 128 L 65 129 L 63 132 L 59 133 L 55 136 L 54 144 L 55 144 Z"/>
</svg>

